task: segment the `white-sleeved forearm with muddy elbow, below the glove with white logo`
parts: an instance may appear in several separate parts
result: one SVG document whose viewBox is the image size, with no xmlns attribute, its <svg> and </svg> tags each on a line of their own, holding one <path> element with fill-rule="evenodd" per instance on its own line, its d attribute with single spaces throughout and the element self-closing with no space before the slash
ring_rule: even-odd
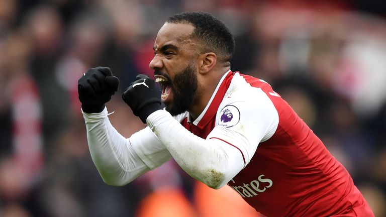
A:
<svg viewBox="0 0 386 217">
<path fill-rule="evenodd" d="M 166 111 L 151 114 L 147 124 L 183 170 L 212 188 L 225 185 L 244 166 L 234 147 L 190 133 Z"/>
</svg>

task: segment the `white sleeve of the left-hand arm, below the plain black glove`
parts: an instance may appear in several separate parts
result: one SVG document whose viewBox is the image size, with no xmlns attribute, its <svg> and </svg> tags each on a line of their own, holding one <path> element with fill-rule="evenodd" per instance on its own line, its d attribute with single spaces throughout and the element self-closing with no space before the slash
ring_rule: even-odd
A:
<svg viewBox="0 0 386 217">
<path fill-rule="evenodd" d="M 107 108 L 101 113 L 82 113 L 92 161 L 107 184 L 125 185 L 170 159 L 149 128 L 126 139 L 111 125 Z"/>
</svg>

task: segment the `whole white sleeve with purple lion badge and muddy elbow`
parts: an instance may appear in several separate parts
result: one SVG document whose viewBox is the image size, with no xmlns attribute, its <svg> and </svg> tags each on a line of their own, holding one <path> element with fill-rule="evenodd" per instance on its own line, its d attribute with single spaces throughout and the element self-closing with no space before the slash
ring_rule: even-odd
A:
<svg viewBox="0 0 386 217">
<path fill-rule="evenodd" d="M 250 162 L 258 144 L 276 131 L 278 114 L 273 103 L 262 91 L 257 94 L 257 100 L 236 97 L 239 100 L 222 104 L 218 124 L 206 139 L 190 133 L 166 111 L 151 114 L 147 124 L 184 171 L 209 187 L 220 188 Z M 239 115 L 221 124 L 227 106 L 237 108 Z"/>
</svg>

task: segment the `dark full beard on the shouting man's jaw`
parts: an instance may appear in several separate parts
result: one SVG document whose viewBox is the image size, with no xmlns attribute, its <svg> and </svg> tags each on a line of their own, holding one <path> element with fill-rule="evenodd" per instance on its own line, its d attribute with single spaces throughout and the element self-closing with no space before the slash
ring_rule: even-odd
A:
<svg viewBox="0 0 386 217">
<path fill-rule="evenodd" d="M 166 105 L 166 111 L 176 116 L 189 109 L 196 95 L 198 80 L 194 62 L 190 62 L 182 72 L 176 74 L 170 83 L 173 102 Z"/>
</svg>

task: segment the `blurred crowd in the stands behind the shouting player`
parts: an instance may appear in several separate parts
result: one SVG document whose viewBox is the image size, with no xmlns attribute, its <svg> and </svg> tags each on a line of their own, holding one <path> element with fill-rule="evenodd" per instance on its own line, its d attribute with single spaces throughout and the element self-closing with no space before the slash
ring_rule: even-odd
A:
<svg viewBox="0 0 386 217">
<path fill-rule="evenodd" d="M 112 124 L 125 137 L 142 129 L 120 95 L 137 74 L 153 76 L 155 36 L 181 11 L 223 20 L 232 70 L 269 82 L 386 216 L 386 20 L 354 2 L 1 0 L 0 216 L 261 216 L 174 161 L 114 187 L 90 158 L 78 78 L 110 67 L 121 81 Z"/>
</svg>

